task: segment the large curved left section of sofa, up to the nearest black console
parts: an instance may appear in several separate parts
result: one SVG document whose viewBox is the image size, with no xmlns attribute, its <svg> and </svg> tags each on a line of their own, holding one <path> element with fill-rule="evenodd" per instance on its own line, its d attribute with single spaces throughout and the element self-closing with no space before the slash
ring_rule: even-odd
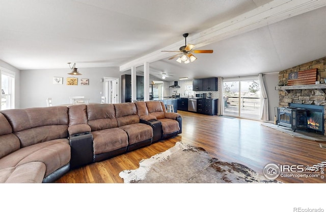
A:
<svg viewBox="0 0 326 212">
<path fill-rule="evenodd" d="M 0 113 L 0 182 L 52 182 L 70 169 L 68 108 Z"/>
</svg>

